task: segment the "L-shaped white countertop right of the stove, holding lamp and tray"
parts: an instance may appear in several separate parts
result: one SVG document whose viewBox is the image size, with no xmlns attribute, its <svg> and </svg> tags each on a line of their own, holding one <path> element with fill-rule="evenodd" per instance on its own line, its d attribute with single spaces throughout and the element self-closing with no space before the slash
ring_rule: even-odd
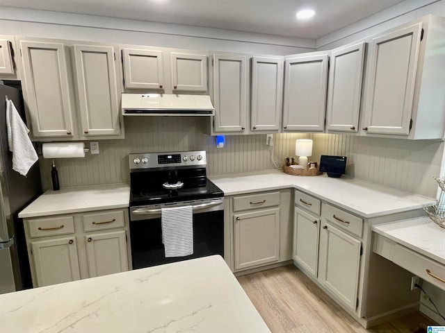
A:
<svg viewBox="0 0 445 333">
<path fill-rule="evenodd" d="M 409 194 L 353 178 L 292 176 L 282 171 L 253 175 L 210 177 L 225 196 L 295 187 L 364 218 L 421 208 L 435 199 Z"/>
</svg>

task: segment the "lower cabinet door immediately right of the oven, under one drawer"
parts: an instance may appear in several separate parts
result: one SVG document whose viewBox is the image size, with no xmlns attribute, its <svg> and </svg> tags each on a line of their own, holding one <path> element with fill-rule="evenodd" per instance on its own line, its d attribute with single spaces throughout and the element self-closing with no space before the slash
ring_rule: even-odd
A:
<svg viewBox="0 0 445 333">
<path fill-rule="evenodd" d="M 235 269 L 276 262 L 280 255 L 280 208 L 234 216 Z"/>
</svg>

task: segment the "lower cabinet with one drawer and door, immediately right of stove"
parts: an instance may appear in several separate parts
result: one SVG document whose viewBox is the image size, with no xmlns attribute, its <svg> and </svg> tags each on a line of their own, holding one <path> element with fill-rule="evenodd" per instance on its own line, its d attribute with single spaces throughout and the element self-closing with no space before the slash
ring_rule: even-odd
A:
<svg viewBox="0 0 445 333">
<path fill-rule="evenodd" d="M 248 273 L 292 259 L 292 202 L 291 189 L 226 198 L 225 260 L 232 271 Z"/>
</svg>

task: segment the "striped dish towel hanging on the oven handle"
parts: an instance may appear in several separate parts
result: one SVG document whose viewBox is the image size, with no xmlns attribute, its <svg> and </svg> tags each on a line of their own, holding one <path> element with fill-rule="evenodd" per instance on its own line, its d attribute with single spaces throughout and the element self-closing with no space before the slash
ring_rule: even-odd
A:
<svg viewBox="0 0 445 333">
<path fill-rule="evenodd" d="M 161 209 L 165 257 L 193 255 L 193 207 Z"/>
</svg>

